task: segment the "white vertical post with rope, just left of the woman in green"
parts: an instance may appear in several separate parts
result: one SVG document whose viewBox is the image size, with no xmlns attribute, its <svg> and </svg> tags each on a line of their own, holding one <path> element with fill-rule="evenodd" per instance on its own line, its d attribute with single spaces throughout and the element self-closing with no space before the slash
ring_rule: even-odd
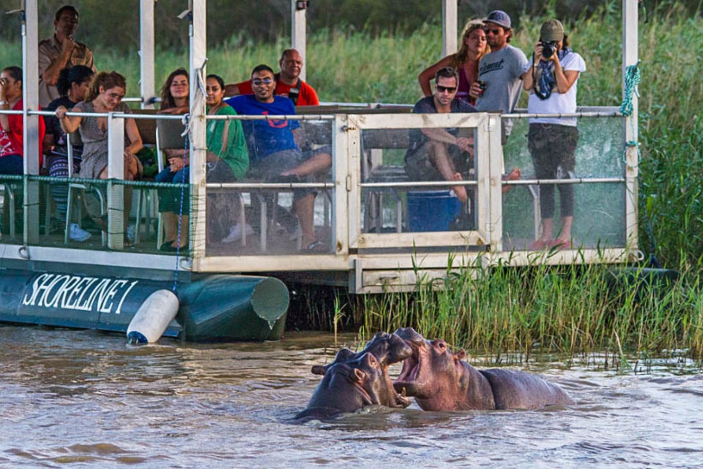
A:
<svg viewBox="0 0 703 469">
<path fill-rule="evenodd" d="M 189 142 L 191 166 L 191 207 L 183 207 L 183 215 L 190 215 L 190 243 L 193 252 L 193 269 L 198 269 L 205 257 L 206 210 L 205 164 L 207 139 L 205 135 L 205 96 L 202 96 L 200 80 L 205 78 L 207 43 L 205 36 L 205 0 L 190 0 L 191 14 L 188 33 L 191 43 L 191 132 Z M 202 86 L 205 86 L 203 83 Z M 186 188 L 186 191 L 189 188 Z M 187 230 L 188 226 L 182 226 Z"/>
</svg>

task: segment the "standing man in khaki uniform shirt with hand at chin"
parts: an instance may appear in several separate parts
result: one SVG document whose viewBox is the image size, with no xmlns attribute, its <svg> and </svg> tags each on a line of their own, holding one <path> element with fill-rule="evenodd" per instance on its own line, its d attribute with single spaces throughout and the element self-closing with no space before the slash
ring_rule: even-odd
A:
<svg viewBox="0 0 703 469">
<path fill-rule="evenodd" d="M 45 107 L 60 97 L 56 89 L 58 74 L 73 65 L 85 65 L 96 71 L 93 53 L 88 46 L 73 39 L 78 27 L 78 11 L 64 5 L 56 11 L 53 20 L 54 34 L 39 42 L 39 105 Z"/>
</svg>

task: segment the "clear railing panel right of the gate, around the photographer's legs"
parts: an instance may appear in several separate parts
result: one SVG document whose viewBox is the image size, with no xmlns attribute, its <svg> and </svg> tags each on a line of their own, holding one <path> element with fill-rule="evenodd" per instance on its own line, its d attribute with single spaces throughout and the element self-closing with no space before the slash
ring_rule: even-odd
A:
<svg viewBox="0 0 703 469">
<path fill-rule="evenodd" d="M 621 117 L 581 117 L 572 184 L 574 245 L 583 248 L 622 248 L 626 241 L 624 120 Z M 523 180 L 536 179 L 527 138 L 526 119 L 513 120 L 503 147 L 506 170 L 519 167 Z M 592 181 L 588 181 L 591 179 Z M 550 184 L 555 186 L 555 184 Z M 560 189 L 555 187 L 553 236 L 559 234 Z M 541 229 L 540 186 L 513 186 L 503 197 L 503 249 L 525 250 Z"/>
</svg>

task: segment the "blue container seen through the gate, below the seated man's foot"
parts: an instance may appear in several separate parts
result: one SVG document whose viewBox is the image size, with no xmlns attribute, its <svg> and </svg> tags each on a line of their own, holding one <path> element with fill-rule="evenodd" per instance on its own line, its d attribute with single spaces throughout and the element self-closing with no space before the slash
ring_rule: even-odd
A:
<svg viewBox="0 0 703 469">
<path fill-rule="evenodd" d="M 409 191 L 409 231 L 449 231 L 461 212 L 461 203 L 451 191 Z"/>
</svg>

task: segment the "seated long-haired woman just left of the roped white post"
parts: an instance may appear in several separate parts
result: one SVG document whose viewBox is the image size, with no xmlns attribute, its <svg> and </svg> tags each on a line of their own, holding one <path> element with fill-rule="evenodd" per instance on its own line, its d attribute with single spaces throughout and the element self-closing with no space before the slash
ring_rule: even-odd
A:
<svg viewBox="0 0 703 469">
<path fill-rule="evenodd" d="M 161 105 L 159 114 L 188 114 L 190 110 L 190 95 L 191 86 L 188 80 L 188 71 L 185 68 L 179 68 L 171 72 L 161 89 Z M 157 182 L 181 182 L 183 174 L 179 174 L 178 179 L 174 179 L 176 171 L 172 168 L 183 167 L 183 159 L 185 158 L 185 148 L 164 148 L 166 153 L 165 168 L 156 175 Z M 185 182 L 188 182 L 186 174 Z M 187 192 L 187 191 L 186 191 Z M 180 188 L 160 188 L 159 191 L 159 212 L 162 214 L 164 236 L 167 240 L 160 246 L 161 250 L 176 249 L 176 237 L 178 236 L 178 219 L 176 214 L 180 212 L 181 189 Z M 183 212 L 186 213 L 185 226 L 188 226 L 188 202 L 184 198 Z M 183 237 L 183 234 L 186 234 Z M 188 230 L 181 232 L 181 248 L 188 244 Z"/>
</svg>

